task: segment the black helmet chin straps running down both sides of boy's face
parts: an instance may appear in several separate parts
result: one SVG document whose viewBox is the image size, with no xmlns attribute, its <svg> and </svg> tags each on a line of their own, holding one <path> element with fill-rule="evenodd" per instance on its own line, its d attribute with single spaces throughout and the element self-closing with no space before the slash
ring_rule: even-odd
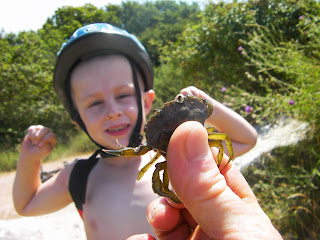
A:
<svg viewBox="0 0 320 240">
<path fill-rule="evenodd" d="M 141 91 L 140 91 L 140 85 L 139 85 L 139 79 L 138 79 L 138 74 L 137 74 L 137 69 L 136 66 L 134 64 L 134 62 L 127 57 L 131 69 L 132 69 L 132 76 L 133 76 L 133 84 L 135 87 L 135 91 L 136 91 L 136 100 L 137 100 L 137 105 L 138 105 L 138 116 L 137 116 L 137 122 L 136 125 L 132 131 L 132 134 L 130 136 L 130 140 L 129 140 L 129 144 L 128 147 L 137 147 L 141 144 L 142 141 L 142 135 L 140 134 L 141 131 L 141 127 L 142 127 L 142 102 L 141 102 Z M 78 111 L 76 109 L 74 109 L 74 111 L 76 112 L 73 116 L 75 116 L 74 121 L 76 121 L 78 123 L 78 125 L 80 126 L 80 128 L 88 135 L 88 137 L 91 139 L 92 142 L 94 142 L 100 149 L 98 149 L 91 157 L 93 156 L 97 156 L 97 154 L 100 153 L 100 156 L 103 158 L 107 158 L 107 157 L 114 157 L 113 155 L 107 154 L 105 152 L 103 152 L 101 149 L 105 148 L 104 146 L 98 144 L 96 141 L 94 141 L 92 139 L 92 137 L 90 136 L 90 134 L 88 133 L 86 126 L 84 125 Z M 91 159 L 91 158 L 90 158 Z"/>
</svg>

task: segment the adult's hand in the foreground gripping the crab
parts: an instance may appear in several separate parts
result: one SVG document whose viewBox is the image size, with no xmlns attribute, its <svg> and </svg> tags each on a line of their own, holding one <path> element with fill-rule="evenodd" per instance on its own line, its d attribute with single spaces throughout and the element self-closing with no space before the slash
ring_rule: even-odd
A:
<svg viewBox="0 0 320 240">
<path fill-rule="evenodd" d="M 282 239 L 259 206 L 238 168 L 218 150 L 208 147 L 207 132 L 198 122 L 186 122 L 173 133 L 167 152 L 172 187 L 184 207 L 159 198 L 147 218 L 159 239 Z M 133 239 L 154 239 L 135 235 Z"/>
</svg>

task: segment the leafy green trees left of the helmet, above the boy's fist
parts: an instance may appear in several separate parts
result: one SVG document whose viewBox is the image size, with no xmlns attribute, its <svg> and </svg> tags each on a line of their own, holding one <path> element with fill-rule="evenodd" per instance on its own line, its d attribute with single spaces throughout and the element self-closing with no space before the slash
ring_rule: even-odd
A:
<svg viewBox="0 0 320 240">
<path fill-rule="evenodd" d="M 54 127 L 66 117 L 52 89 L 52 54 L 39 35 L 32 31 L 21 32 L 2 38 L 0 44 L 0 139 L 3 148 L 20 142 L 24 130 L 31 124 Z"/>
</svg>

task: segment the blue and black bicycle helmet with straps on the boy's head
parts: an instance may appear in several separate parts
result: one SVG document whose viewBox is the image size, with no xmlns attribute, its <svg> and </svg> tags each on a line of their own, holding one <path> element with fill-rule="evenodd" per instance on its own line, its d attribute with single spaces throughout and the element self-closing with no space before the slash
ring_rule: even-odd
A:
<svg viewBox="0 0 320 240">
<path fill-rule="evenodd" d="M 129 146 L 137 146 L 141 143 L 142 106 L 136 68 L 142 74 L 145 91 L 152 89 L 154 73 L 149 54 L 134 35 L 107 23 L 94 23 L 77 29 L 69 41 L 62 44 L 60 51 L 57 53 L 53 75 L 54 89 L 71 118 L 88 134 L 77 109 L 72 103 L 70 75 L 79 62 L 106 54 L 122 54 L 128 58 L 131 64 L 133 82 L 137 91 L 139 116 Z"/>
</svg>

